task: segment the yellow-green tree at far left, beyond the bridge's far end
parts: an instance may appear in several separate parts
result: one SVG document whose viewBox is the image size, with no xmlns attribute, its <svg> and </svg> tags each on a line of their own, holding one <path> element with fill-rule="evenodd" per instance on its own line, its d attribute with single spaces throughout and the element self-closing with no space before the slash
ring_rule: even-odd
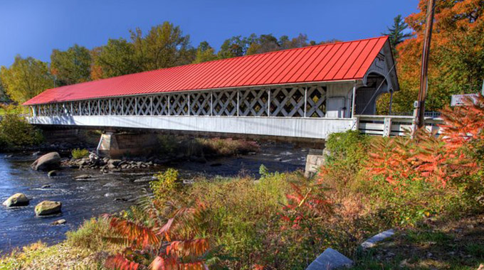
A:
<svg viewBox="0 0 484 270">
<path fill-rule="evenodd" d="M 47 63 L 31 57 L 21 58 L 20 55 L 15 57 L 10 68 L 1 67 L 0 80 L 7 95 L 19 103 L 53 87 L 53 77 Z"/>
</svg>

